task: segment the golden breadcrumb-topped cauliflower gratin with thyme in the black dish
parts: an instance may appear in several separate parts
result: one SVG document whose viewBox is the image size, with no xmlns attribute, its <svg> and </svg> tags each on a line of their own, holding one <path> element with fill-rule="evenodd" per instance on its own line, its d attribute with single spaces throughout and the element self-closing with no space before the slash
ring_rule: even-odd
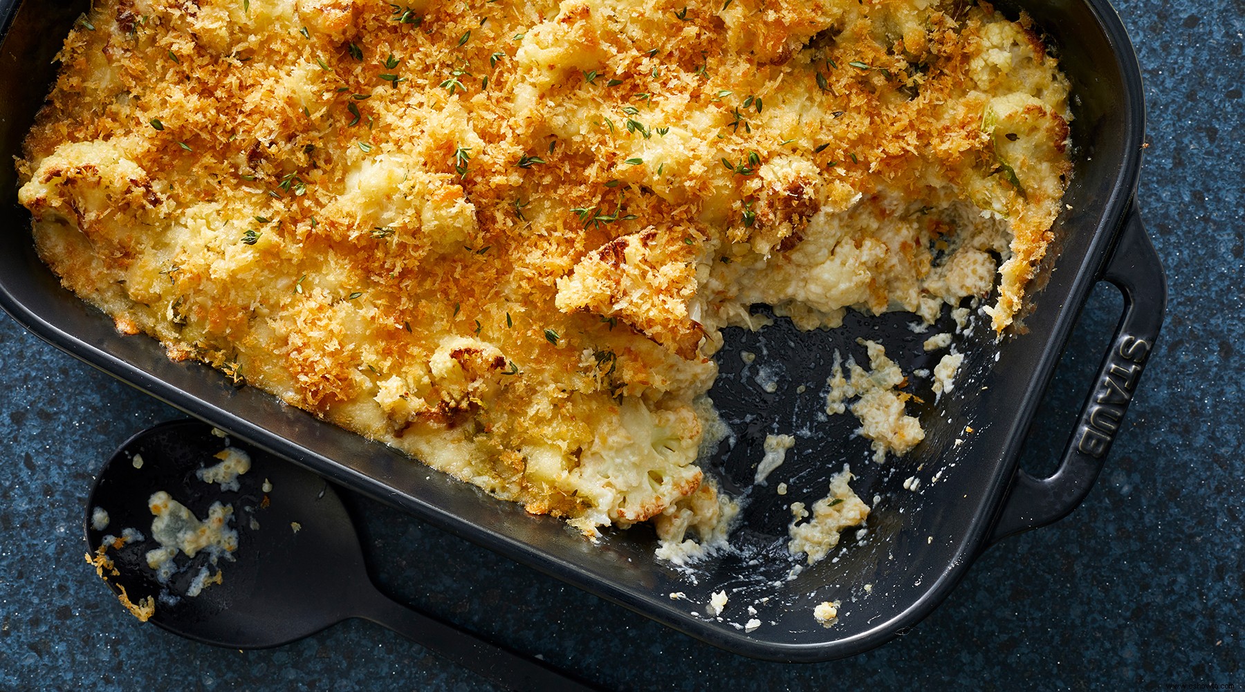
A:
<svg viewBox="0 0 1245 692">
<path fill-rule="evenodd" d="M 1071 172 L 1028 19 L 954 0 L 100 0 L 59 58 L 19 198 L 118 330 L 671 546 L 731 515 L 723 326 L 1002 330 Z M 901 408 L 853 407 L 879 456 Z"/>
</svg>

